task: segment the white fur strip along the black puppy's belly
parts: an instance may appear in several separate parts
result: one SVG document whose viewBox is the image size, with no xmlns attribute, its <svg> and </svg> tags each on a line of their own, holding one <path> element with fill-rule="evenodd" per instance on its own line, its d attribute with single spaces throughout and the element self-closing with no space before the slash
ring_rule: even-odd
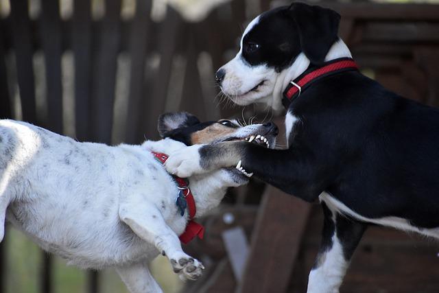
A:
<svg viewBox="0 0 439 293">
<path fill-rule="evenodd" d="M 349 209 L 348 207 L 346 207 L 344 203 L 340 202 L 340 200 L 337 200 L 336 198 L 333 198 L 327 192 L 322 192 L 322 194 L 320 194 L 319 196 L 319 199 L 320 201 L 326 203 L 327 207 L 331 209 L 331 211 L 340 213 L 342 215 L 348 215 L 355 220 L 372 223 L 372 224 L 378 224 L 381 226 L 389 226 L 403 231 L 412 231 L 439 239 L 439 228 L 420 229 L 410 224 L 410 222 L 408 222 L 406 219 L 397 218 L 397 217 L 384 217 L 377 219 L 366 218 L 362 215 L 359 215 L 352 209 Z"/>
</svg>

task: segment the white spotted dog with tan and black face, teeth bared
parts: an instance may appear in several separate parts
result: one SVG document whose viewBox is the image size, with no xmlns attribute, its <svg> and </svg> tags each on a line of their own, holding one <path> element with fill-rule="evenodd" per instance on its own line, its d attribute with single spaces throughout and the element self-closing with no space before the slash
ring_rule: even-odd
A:
<svg viewBox="0 0 439 293">
<path fill-rule="evenodd" d="M 171 113 L 160 117 L 158 130 L 159 141 L 108 146 L 0 120 L 1 221 L 69 264 L 115 268 L 132 293 L 161 292 L 147 267 L 158 253 L 182 279 L 198 279 L 204 267 L 183 252 L 180 239 L 202 236 L 191 218 L 216 207 L 228 187 L 246 184 L 251 174 L 241 166 L 219 169 L 189 177 L 188 185 L 166 172 L 166 154 L 257 134 L 265 137 L 261 145 L 272 147 L 277 128 L 201 123 L 187 113 Z M 190 231 L 191 224 L 198 230 Z M 0 227 L 1 240 L 4 223 Z"/>
</svg>

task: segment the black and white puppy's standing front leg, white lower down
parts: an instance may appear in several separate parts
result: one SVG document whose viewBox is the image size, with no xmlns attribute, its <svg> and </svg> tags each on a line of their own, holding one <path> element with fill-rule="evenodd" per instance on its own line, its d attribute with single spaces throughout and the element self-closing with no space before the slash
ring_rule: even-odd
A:
<svg viewBox="0 0 439 293">
<path fill-rule="evenodd" d="M 332 212 L 322 203 L 322 244 L 309 273 L 308 293 L 337 293 L 366 224 Z"/>
</svg>

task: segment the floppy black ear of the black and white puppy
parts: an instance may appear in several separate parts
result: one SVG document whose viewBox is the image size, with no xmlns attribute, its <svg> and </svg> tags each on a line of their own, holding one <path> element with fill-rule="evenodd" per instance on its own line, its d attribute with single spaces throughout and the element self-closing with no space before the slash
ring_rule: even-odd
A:
<svg viewBox="0 0 439 293">
<path fill-rule="evenodd" d="M 340 14 L 317 5 L 292 3 L 288 12 L 296 23 L 303 53 L 314 65 L 321 65 L 336 40 Z"/>
</svg>

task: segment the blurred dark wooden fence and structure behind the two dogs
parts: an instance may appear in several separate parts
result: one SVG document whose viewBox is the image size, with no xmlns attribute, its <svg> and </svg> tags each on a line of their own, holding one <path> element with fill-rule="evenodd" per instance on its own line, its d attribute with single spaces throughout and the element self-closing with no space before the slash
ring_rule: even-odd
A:
<svg viewBox="0 0 439 293">
<path fill-rule="evenodd" d="M 267 0 L 257 2 L 261 10 L 270 6 Z M 213 72 L 231 56 L 227 52 L 235 54 L 247 21 L 246 1 L 224 4 L 199 23 L 183 20 L 171 8 L 163 21 L 152 21 L 150 1 L 143 0 L 136 1 L 130 19 L 121 18 L 121 0 L 106 0 L 105 14 L 97 20 L 87 0 L 73 1 L 70 19 L 60 17 L 58 0 L 41 1 L 41 14 L 30 19 L 27 3 L 10 1 L 10 14 L 0 19 L 1 118 L 21 113 L 25 121 L 62 133 L 65 114 L 74 110 L 74 132 L 68 134 L 78 140 L 139 143 L 145 135 L 157 137 L 156 119 L 166 110 L 188 110 L 200 119 L 241 115 L 241 108 L 217 108 Z M 321 5 L 342 14 L 340 36 L 361 69 L 405 97 L 439 106 L 439 5 Z M 45 56 L 45 76 L 38 77 L 46 89 L 42 112 L 34 68 L 38 51 Z M 62 98 L 66 95 L 62 60 L 69 52 L 73 108 L 66 107 Z M 130 65 L 128 85 L 121 90 L 125 98 L 118 101 L 121 56 L 128 56 Z M 115 115 L 119 112 L 124 115 Z M 185 292 L 304 292 L 320 239 L 318 207 L 272 187 L 265 189 L 257 181 L 233 191 L 228 201 L 233 222 L 225 223 L 226 211 L 218 211 L 205 219 L 206 241 L 187 246 L 210 265 L 206 277 L 189 284 Z M 222 233 L 232 226 L 244 227 L 250 240 L 241 280 L 235 279 L 222 242 Z M 372 228 L 361 242 L 342 291 L 437 292 L 439 270 L 432 269 L 439 266 L 435 249 L 402 233 Z M 0 292 L 4 292 L 8 280 L 1 270 L 7 253 L 1 251 Z M 50 257 L 45 257 L 41 272 L 40 292 L 50 293 Z M 98 287 L 97 274 L 91 273 L 87 292 L 99 292 Z"/>
</svg>

